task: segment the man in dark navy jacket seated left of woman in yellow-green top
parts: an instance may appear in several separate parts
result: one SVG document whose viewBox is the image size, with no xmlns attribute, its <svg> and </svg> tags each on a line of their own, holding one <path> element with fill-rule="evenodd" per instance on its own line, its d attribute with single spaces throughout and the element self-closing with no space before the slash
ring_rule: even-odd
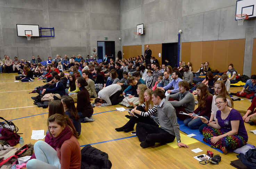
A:
<svg viewBox="0 0 256 169">
<path fill-rule="evenodd" d="M 54 76 L 53 81 L 55 83 L 53 84 L 53 89 L 43 89 L 42 95 L 47 93 L 59 94 L 60 96 L 65 95 L 65 87 L 59 82 L 59 80 L 59 75 Z"/>
</svg>

